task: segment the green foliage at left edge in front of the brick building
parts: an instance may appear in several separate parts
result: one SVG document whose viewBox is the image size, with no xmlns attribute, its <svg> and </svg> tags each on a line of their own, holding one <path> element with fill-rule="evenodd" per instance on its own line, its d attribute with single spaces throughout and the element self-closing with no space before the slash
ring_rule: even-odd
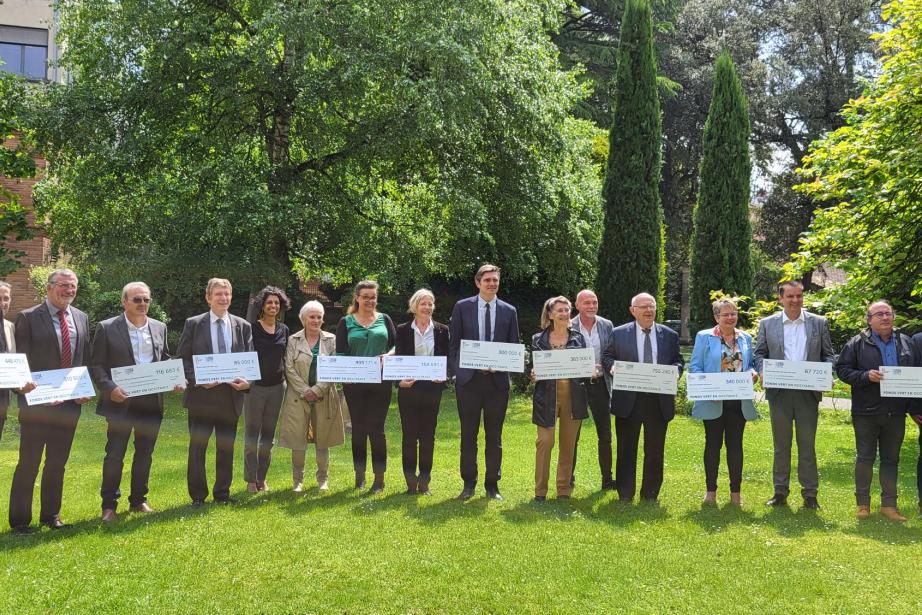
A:
<svg viewBox="0 0 922 615">
<path fill-rule="evenodd" d="M 0 178 L 16 179 L 35 176 L 35 162 L 20 143 L 8 147 L 20 136 L 20 120 L 25 97 L 22 81 L 0 71 Z M 0 278 L 20 267 L 22 250 L 7 247 L 5 240 L 24 241 L 32 237 L 27 213 L 19 197 L 0 184 Z"/>
</svg>

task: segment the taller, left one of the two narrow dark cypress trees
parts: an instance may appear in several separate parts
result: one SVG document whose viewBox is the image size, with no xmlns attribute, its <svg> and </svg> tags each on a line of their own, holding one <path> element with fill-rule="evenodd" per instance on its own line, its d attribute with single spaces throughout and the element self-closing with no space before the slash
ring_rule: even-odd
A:
<svg viewBox="0 0 922 615">
<path fill-rule="evenodd" d="M 650 0 L 627 0 L 612 100 L 605 232 L 596 290 L 606 314 L 627 322 L 631 297 L 647 292 L 663 307 L 665 256 L 659 182 L 662 126 Z"/>
</svg>

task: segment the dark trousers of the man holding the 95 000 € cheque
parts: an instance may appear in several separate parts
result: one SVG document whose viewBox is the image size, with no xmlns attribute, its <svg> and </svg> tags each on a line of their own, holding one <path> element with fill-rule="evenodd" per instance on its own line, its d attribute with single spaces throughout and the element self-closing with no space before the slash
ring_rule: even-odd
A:
<svg viewBox="0 0 922 615">
<path fill-rule="evenodd" d="M 234 440 L 240 417 L 234 411 L 230 392 L 227 393 L 226 403 L 222 406 L 189 408 L 189 464 L 186 482 L 189 497 L 193 500 L 201 501 L 208 497 L 205 453 L 212 432 L 215 435 L 215 481 L 212 494 L 216 500 L 230 497 L 230 483 L 234 473 Z"/>
</svg>

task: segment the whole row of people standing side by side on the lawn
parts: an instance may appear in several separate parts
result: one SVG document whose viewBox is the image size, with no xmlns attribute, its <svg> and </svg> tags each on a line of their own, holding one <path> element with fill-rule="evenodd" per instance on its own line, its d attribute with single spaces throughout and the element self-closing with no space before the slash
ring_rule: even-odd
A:
<svg viewBox="0 0 922 615">
<path fill-rule="evenodd" d="M 329 449 L 345 442 L 351 425 L 355 488 L 366 487 L 368 450 L 371 450 L 372 493 L 384 489 L 387 467 L 385 420 L 392 390 L 402 431 L 402 466 L 407 493 L 430 494 L 435 431 L 446 381 L 401 380 L 397 383 L 346 383 L 340 387 L 317 377 L 318 357 L 347 355 L 382 357 L 388 354 L 446 357 L 449 379 L 454 379 L 461 426 L 459 499 L 474 496 L 479 481 L 477 442 L 481 424 L 485 441 L 483 485 L 489 498 L 501 500 L 502 430 L 509 402 L 506 372 L 461 367 L 462 340 L 519 343 L 516 308 L 499 299 L 500 269 L 483 265 L 474 276 L 477 294 L 458 301 L 446 326 L 433 320 L 435 296 L 427 289 L 409 300 L 412 319 L 399 326 L 377 311 L 378 285 L 359 282 L 352 304 L 333 335 L 323 330 L 324 307 L 308 301 L 299 310 L 302 330 L 289 335 L 282 322 L 290 300 L 282 289 L 266 287 L 256 294 L 249 322 L 229 313 L 231 282 L 212 278 L 205 289 L 208 311 L 186 320 L 176 351 L 182 359 L 186 386 L 183 406 L 188 411 L 189 452 L 187 484 L 193 506 L 209 495 L 206 451 L 215 436 L 216 471 L 211 495 L 215 502 L 233 503 L 234 442 L 240 415 L 244 415 L 244 480 L 250 492 L 269 490 L 266 476 L 273 442 L 291 450 L 292 485 L 304 489 L 306 451 L 314 445 L 318 488 L 326 491 Z M 171 358 L 166 325 L 148 316 L 151 290 L 131 282 L 122 291 L 123 313 L 100 322 L 91 336 L 88 319 L 71 304 L 78 280 L 69 269 L 48 277 L 46 300 L 19 313 L 15 326 L 2 319 L 9 309 L 10 286 L 0 282 L 0 352 L 24 353 L 32 371 L 87 366 L 98 389 L 97 413 L 107 421 L 103 461 L 101 518 L 117 519 L 125 454 L 134 434 L 129 510 L 149 513 L 148 479 L 153 450 L 163 418 L 163 394 L 129 396 L 112 379 L 112 369 Z M 914 338 L 893 327 L 893 308 L 875 301 L 867 310 L 868 328 L 853 337 L 838 355 L 833 352 L 826 320 L 803 309 L 799 282 L 779 286 L 782 310 L 759 324 L 753 344 L 737 328 L 738 309 L 730 300 L 713 304 L 715 326 L 698 332 L 689 371 L 746 372 L 760 378 L 766 359 L 819 361 L 835 364 L 839 377 L 852 387 L 852 423 L 855 432 L 855 497 L 857 516 L 870 514 L 872 469 L 880 451 L 881 508 L 883 516 L 905 521 L 897 508 L 897 467 L 905 436 L 905 415 L 922 426 L 922 400 L 882 397 L 880 366 L 922 366 L 922 334 Z M 591 348 L 596 367 L 592 377 L 535 381 L 532 422 L 537 427 L 534 499 L 548 496 L 551 453 L 558 431 L 556 496 L 569 498 L 580 426 L 591 414 L 596 426 L 601 485 L 615 490 L 622 501 L 637 492 L 637 454 L 644 434 L 640 498 L 656 502 L 663 484 L 666 434 L 675 416 L 673 395 L 612 389 L 616 361 L 673 365 L 679 373 L 684 360 L 675 331 L 656 322 L 656 299 L 640 293 L 631 300 L 633 321 L 621 326 L 598 315 L 594 292 L 583 290 L 573 306 L 563 296 L 548 299 L 541 313 L 541 330 L 534 334 L 536 351 Z M 236 378 L 225 383 L 196 383 L 195 355 L 256 352 L 260 379 Z M 80 417 L 89 398 L 53 404 L 30 405 L 20 389 L 19 460 L 10 490 L 9 523 L 15 533 L 34 531 L 32 499 L 38 470 L 41 478 L 39 522 L 52 529 L 66 527 L 62 520 L 61 493 L 64 469 Z M 767 504 L 787 504 L 790 490 L 791 449 L 796 438 L 798 479 L 803 505 L 820 507 L 819 472 L 815 452 L 818 404 L 815 391 L 766 390 L 770 409 L 774 462 L 774 494 Z M 0 390 L 0 432 L 9 391 Z M 616 451 L 613 464 L 612 423 Z M 726 449 L 730 502 L 740 505 L 743 469 L 743 433 L 746 423 L 758 418 L 751 400 L 696 401 L 692 415 L 704 422 L 705 505 L 717 502 L 717 477 L 721 450 Z M 922 444 L 922 435 L 920 435 Z M 613 467 L 614 465 L 614 467 Z M 918 476 L 922 494 L 922 455 Z M 922 511 L 920 511 L 922 512 Z"/>
</svg>

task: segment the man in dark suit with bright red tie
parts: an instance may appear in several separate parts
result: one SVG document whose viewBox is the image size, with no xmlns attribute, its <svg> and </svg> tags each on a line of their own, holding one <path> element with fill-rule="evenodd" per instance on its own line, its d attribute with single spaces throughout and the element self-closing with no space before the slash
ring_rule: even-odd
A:
<svg viewBox="0 0 922 615">
<path fill-rule="evenodd" d="M 48 276 L 44 303 L 23 310 L 16 318 L 16 350 L 28 357 L 34 372 L 79 367 L 90 358 L 86 314 L 71 306 L 77 296 L 77 275 L 55 269 Z M 19 398 L 19 462 L 10 489 L 10 527 L 15 533 L 31 532 L 32 491 L 38 468 L 42 470 L 39 522 L 52 529 L 67 527 L 61 520 L 64 467 L 70 457 L 80 405 L 90 398 L 30 406 Z"/>
</svg>

